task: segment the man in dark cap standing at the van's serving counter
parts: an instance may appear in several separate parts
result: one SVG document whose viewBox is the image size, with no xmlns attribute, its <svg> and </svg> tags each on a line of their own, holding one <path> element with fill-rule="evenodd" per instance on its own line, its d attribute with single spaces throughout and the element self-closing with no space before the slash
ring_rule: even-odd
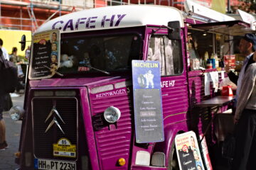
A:
<svg viewBox="0 0 256 170">
<path fill-rule="evenodd" d="M 225 72 L 228 73 L 230 81 L 238 86 L 235 94 L 236 101 L 238 101 L 238 97 L 240 94 L 240 86 L 245 74 L 245 68 L 247 68 L 253 62 L 252 55 L 253 52 L 255 52 L 256 50 L 256 36 L 252 33 L 245 34 L 245 36 L 240 40 L 239 50 L 242 55 L 246 56 L 239 77 L 235 75 L 235 73 L 230 72 L 230 67 L 228 67 L 227 65 L 225 66 Z"/>
</svg>

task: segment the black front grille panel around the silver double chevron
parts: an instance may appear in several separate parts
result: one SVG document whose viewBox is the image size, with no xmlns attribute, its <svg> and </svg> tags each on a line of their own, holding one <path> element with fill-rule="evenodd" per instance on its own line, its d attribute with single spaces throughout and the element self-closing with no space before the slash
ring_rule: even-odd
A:
<svg viewBox="0 0 256 170">
<path fill-rule="evenodd" d="M 73 158 L 53 157 L 53 143 L 56 143 L 61 137 L 65 137 L 73 145 L 77 145 L 78 148 L 78 101 L 76 98 L 33 98 L 32 102 L 35 157 L 74 160 Z M 56 125 L 53 125 L 48 132 L 45 132 L 53 119 L 49 118 L 45 123 L 48 114 L 53 108 L 53 103 L 55 103 L 56 110 L 65 122 L 64 124 L 57 118 L 65 135 Z"/>
</svg>

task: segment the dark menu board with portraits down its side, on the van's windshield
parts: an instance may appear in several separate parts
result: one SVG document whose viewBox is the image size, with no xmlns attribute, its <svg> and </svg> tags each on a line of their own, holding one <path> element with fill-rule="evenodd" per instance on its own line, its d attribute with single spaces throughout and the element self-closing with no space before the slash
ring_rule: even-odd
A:
<svg viewBox="0 0 256 170">
<path fill-rule="evenodd" d="M 60 64 L 60 32 L 49 30 L 33 35 L 29 79 L 53 77 Z"/>
</svg>

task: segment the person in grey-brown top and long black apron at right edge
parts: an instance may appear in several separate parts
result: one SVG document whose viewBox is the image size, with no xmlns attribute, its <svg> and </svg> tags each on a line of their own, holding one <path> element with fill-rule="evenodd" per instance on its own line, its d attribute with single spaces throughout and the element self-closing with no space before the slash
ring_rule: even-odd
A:
<svg viewBox="0 0 256 170">
<path fill-rule="evenodd" d="M 235 157 L 232 170 L 256 168 L 256 53 L 245 67 L 235 110 Z"/>
</svg>

